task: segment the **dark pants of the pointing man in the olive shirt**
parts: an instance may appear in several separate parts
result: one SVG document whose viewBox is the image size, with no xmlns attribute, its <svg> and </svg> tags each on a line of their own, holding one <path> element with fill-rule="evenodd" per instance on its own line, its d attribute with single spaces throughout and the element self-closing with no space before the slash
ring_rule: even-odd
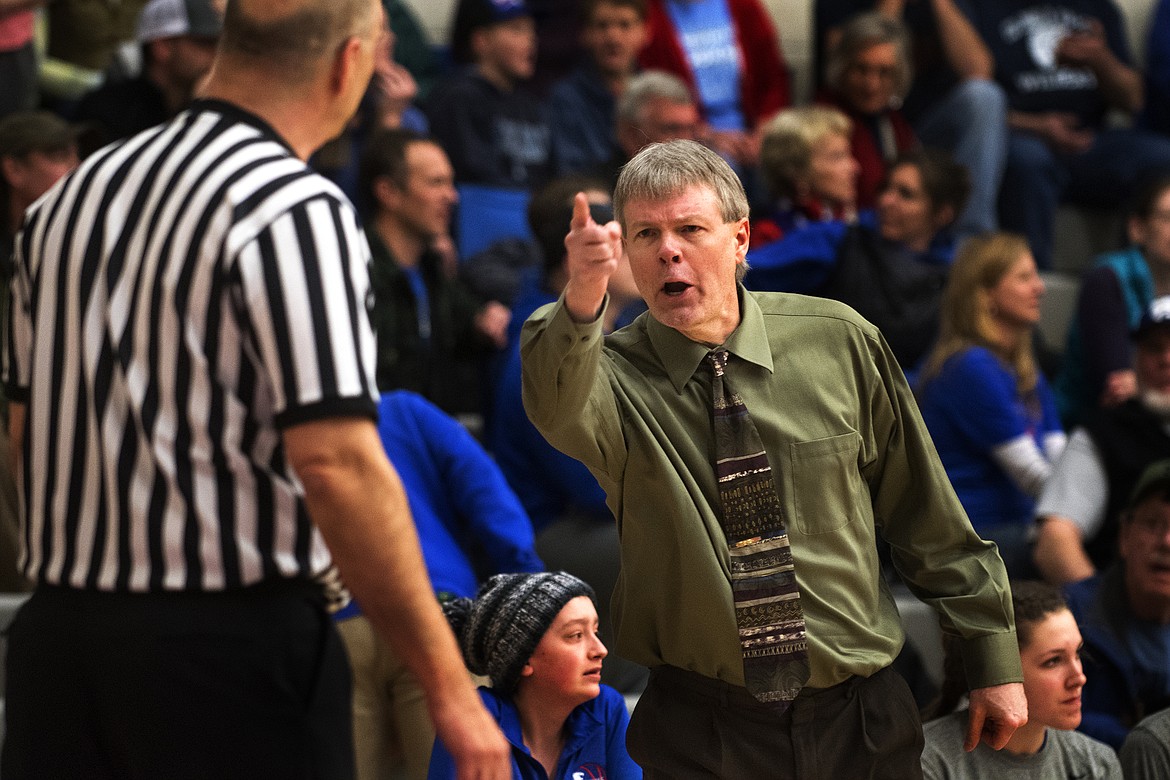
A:
<svg viewBox="0 0 1170 780">
<path fill-rule="evenodd" d="M 782 716 L 746 689 L 660 667 L 626 734 L 646 780 L 921 780 L 922 723 L 906 682 L 872 677 L 805 689 Z"/>
</svg>

